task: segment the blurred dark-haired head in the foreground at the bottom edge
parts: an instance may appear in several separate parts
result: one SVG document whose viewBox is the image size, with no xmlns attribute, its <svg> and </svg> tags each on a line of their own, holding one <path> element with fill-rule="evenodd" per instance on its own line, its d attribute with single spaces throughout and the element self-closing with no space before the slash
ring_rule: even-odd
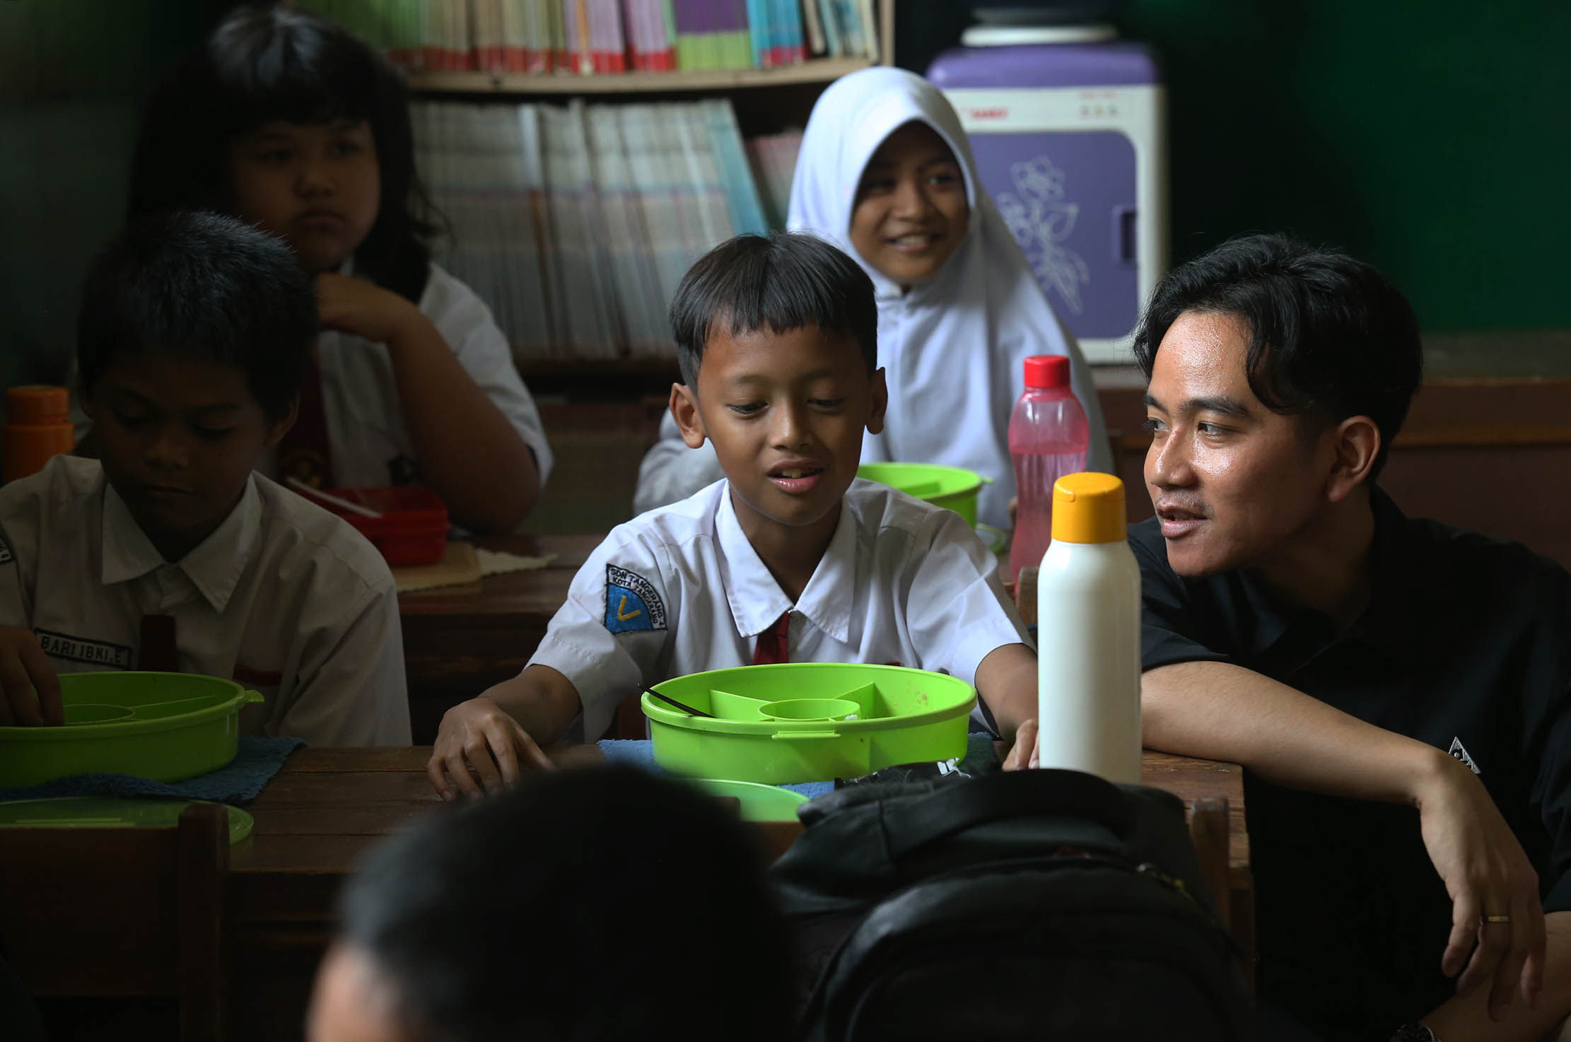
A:
<svg viewBox="0 0 1571 1042">
<path fill-rule="evenodd" d="M 751 836 L 687 783 L 534 775 L 377 847 L 308 1042 L 773 1040 L 789 954 Z"/>
</svg>

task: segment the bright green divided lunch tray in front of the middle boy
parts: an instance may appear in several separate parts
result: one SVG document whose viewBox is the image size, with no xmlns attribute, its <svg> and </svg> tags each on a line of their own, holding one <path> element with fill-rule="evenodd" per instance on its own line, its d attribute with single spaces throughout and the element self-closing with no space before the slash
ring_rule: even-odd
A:
<svg viewBox="0 0 1571 1042">
<path fill-rule="evenodd" d="M 715 717 L 691 717 L 646 693 L 657 764 L 768 784 L 965 756 L 977 701 L 974 687 L 943 673 L 828 662 L 712 670 L 652 690 Z"/>
</svg>

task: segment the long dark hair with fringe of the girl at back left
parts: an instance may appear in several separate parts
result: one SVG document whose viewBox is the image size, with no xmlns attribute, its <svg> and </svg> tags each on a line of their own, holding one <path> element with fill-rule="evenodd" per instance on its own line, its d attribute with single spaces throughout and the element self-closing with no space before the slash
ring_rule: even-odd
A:
<svg viewBox="0 0 1571 1042">
<path fill-rule="evenodd" d="M 415 170 L 408 88 L 369 44 L 306 11 L 237 8 L 156 88 L 132 159 L 130 217 L 233 211 L 229 146 L 269 119 L 371 126 L 382 203 L 355 269 L 418 303 L 440 215 Z"/>
</svg>

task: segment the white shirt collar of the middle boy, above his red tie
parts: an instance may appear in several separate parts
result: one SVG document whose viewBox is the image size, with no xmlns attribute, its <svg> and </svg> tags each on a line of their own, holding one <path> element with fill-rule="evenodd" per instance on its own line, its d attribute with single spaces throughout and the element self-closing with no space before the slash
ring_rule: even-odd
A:
<svg viewBox="0 0 1571 1042">
<path fill-rule="evenodd" d="M 715 515 L 715 536 L 724 558 L 726 599 L 731 618 L 742 637 L 757 637 L 786 611 L 807 616 L 815 627 L 840 641 L 853 643 L 851 607 L 856 596 L 856 514 L 850 500 L 840 500 L 840 519 L 825 549 L 812 578 L 793 605 L 770 575 L 759 552 L 753 549 L 737 509 L 731 503 L 731 482 L 720 487 L 720 509 Z M 859 637 L 859 635 L 856 635 Z"/>
</svg>

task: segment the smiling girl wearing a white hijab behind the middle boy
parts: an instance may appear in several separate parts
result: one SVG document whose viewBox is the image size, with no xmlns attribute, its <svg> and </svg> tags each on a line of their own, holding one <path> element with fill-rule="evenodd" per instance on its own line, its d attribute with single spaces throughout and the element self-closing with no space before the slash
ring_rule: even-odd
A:
<svg viewBox="0 0 1571 1042">
<path fill-rule="evenodd" d="M 831 83 L 803 135 L 789 226 L 845 250 L 878 295 L 889 412 L 883 434 L 866 435 L 864 460 L 985 475 L 993 484 L 977 517 L 1009 528 L 1009 413 L 1024 390 L 1023 360 L 1068 355 L 1090 424 L 1087 468 L 1112 470 L 1090 369 L 977 181 L 960 118 L 936 86 L 891 68 Z M 633 508 L 674 503 L 721 476 L 713 446 L 687 448 L 666 415 Z"/>
</svg>

